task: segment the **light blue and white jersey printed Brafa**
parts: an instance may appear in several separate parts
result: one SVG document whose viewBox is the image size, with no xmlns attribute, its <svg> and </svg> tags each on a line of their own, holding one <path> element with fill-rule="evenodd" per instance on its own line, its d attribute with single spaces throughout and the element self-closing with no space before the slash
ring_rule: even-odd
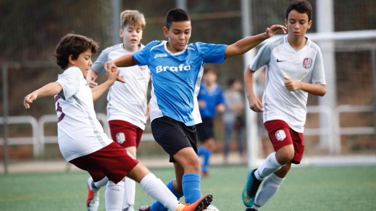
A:
<svg viewBox="0 0 376 211">
<path fill-rule="evenodd" d="M 152 75 L 150 118 L 168 116 L 187 126 L 201 123 L 197 95 L 205 63 L 223 63 L 227 45 L 196 42 L 171 53 L 167 41 L 153 41 L 133 54 Z"/>
</svg>

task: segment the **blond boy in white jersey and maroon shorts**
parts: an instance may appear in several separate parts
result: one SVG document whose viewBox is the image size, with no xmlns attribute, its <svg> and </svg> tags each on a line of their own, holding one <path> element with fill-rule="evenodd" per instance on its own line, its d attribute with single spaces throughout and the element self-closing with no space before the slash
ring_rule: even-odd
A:
<svg viewBox="0 0 376 211">
<path fill-rule="evenodd" d="M 106 62 L 126 54 L 133 54 L 145 47 L 141 44 L 142 31 L 145 25 L 145 18 L 139 11 L 124 10 L 121 12 L 119 35 L 123 42 L 108 47 L 100 53 L 86 77 L 90 87 L 97 85 L 95 79 L 100 74 L 106 74 L 104 69 Z M 119 145 L 136 157 L 148 115 L 147 87 L 151 77 L 150 70 L 146 65 L 122 67 L 119 68 L 119 76 L 125 83 L 115 82 L 108 91 L 107 121 L 112 140 L 118 142 Z M 105 186 L 107 182 L 107 177 L 95 183 L 92 178 L 88 179 L 89 194 L 86 203 L 88 211 L 98 210 L 99 189 Z M 126 177 L 123 211 L 134 211 L 135 193 L 135 181 Z"/>
</svg>

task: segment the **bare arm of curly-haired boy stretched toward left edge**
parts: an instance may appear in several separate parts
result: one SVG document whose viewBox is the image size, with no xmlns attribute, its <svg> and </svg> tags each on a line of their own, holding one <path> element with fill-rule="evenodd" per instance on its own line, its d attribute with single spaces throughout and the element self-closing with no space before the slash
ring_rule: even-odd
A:
<svg viewBox="0 0 376 211">
<path fill-rule="evenodd" d="M 24 106 L 26 109 L 28 109 L 30 108 L 30 104 L 32 104 L 37 98 L 54 96 L 59 94 L 61 90 L 63 90 L 63 87 L 61 87 L 59 83 L 49 83 L 24 97 Z"/>
</svg>

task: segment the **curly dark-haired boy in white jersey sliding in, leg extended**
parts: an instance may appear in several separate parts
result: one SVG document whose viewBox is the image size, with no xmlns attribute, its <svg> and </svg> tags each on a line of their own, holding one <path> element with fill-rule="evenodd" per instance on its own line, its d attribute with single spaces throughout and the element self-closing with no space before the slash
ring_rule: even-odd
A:
<svg viewBox="0 0 376 211">
<path fill-rule="evenodd" d="M 207 194 L 191 205 L 181 204 L 174 194 L 154 174 L 133 158 L 118 143 L 103 132 L 96 119 L 93 101 L 98 99 L 118 77 L 114 65 L 106 65 L 108 80 L 91 89 L 85 76 L 92 66 L 91 56 L 98 44 L 81 35 L 68 34 L 56 47 L 58 65 L 64 69 L 58 80 L 35 90 L 24 98 L 25 108 L 30 108 L 39 97 L 55 96 L 58 116 L 58 143 L 63 157 L 76 167 L 87 170 L 94 182 L 109 178 L 106 189 L 106 210 L 122 210 L 121 197 L 114 198 L 108 191 L 124 192 L 124 177 L 140 183 L 143 190 L 171 211 L 201 211 L 211 202 Z"/>
</svg>

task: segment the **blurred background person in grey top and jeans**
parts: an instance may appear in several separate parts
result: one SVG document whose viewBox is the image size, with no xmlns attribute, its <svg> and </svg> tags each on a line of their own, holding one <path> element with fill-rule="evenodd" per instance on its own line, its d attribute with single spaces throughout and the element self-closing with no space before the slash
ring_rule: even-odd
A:
<svg viewBox="0 0 376 211">
<path fill-rule="evenodd" d="M 241 160 L 243 160 L 243 128 L 244 128 L 244 96 L 241 93 L 243 84 L 238 79 L 230 79 L 227 83 L 229 89 L 224 92 L 226 110 L 223 113 L 225 125 L 225 146 L 223 149 L 224 163 L 228 163 L 230 143 L 235 129 L 237 136 L 237 148 Z"/>
</svg>

